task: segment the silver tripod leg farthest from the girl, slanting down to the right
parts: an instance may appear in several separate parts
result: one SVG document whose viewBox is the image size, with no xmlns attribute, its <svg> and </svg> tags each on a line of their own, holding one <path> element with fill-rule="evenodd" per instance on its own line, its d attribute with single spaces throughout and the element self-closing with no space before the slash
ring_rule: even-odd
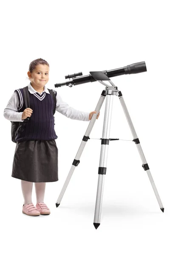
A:
<svg viewBox="0 0 170 256">
<path fill-rule="evenodd" d="M 155 193 L 155 195 L 156 195 L 156 199 L 157 199 L 157 201 L 158 201 L 158 203 L 159 203 L 160 209 L 161 209 L 162 212 L 164 212 L 164 207 L 163 207 L 163 205 L 162 205 L 162 203 L 161 203 L 161 199 L 160 199 L 160 197 L 159 197 L 158 191 L 157 191 L 156 186 L 155 186 L 155 183 L 154 183 L 154 181 L 153 181 L 153 177 L 152 177 L 152 175 L 151 175 L 151 173 L 150 173 L 150 169 L 149 169 L 149 166 L 148 166 L 148 164 L 147 164 L 147 161 L 146 161 L 146 159 L 145 159 L 145 157 L 144 157 L 144 153 L 143 153 L 143 151 L 142 151 L 142 147 L 141 147 L 141 145 L 140 145 L 140 142 L 139 142 L 139 139 L 138 139 L 138 137 L 137 137 L 136 131 L 135 131 L 134 127 L 133 127 L 133 123 L 132 123 L 132 121 L 131 121 L 131 119 L 130 119 L 130 115 L 129 115 L 128 111 L 127 111 L 127 107 L 126 107 L 126 105 L 125 105 L 125 102 L 124 102 L 124 99 L 123 99 L 123 97 L 122 97 L 121 91 L 118 92 L 118 96 L 119 96 L 120 102 L 121 102 L 121 104 L 122 104 L 122 108 L 123 108 L 123 110 L 124 110 L 124 112 L 125 112 L 125 116 L 126 116 L 126 118 L 127 118 L 127 122 L 128 122 L 128 124 L 129 124 L 129 126 L 130 126 L 130 130 L 131 130 L 131 132 L 132 132 L 133 139 L 134 139 L 133 141 L 136 143 L 137 149 L 138 149 L 139 154 L 140 154 L 140 157 L 141 157 L 141 159 L 142 159 L 142 163 L 143 163 L 143 164 L 142 164 L 142 167 L 143 167 L 144 170 L 147 172 L 147 175 L 148 175 L 148 177 L 149 177 L 149 179 L 150 179 L 150 183 L 151 183 L 151 185 L 152 185 L 152 187 L 153 187 L 153 191 L 154 191 L 154 193 Z"/>
</svg>

